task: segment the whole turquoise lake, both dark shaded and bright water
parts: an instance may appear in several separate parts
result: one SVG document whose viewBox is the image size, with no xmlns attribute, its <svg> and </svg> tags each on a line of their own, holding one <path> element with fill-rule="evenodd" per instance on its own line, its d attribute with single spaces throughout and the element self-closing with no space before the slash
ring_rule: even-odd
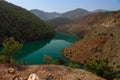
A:
<svg viewBox="0 0 120 80">
<path fill-rule="evenodd" d="M 25 59 L 27 64 L 44 64 L 43 56 L 46 54 L 56 59 L 61 50 L 78 40 L 78 37 L 57 33 L 52 39 L 23 43 L 21 51 L 15 54 L 15 59 L 21 63 Z"/>
</svg>

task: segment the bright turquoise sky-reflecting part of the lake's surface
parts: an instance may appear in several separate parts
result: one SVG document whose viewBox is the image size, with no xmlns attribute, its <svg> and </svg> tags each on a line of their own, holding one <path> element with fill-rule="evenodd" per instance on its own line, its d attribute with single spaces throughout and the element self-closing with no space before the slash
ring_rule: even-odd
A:
<svg viewBox="0 0 120 80">
<path fill-rule="evenodd" d="M 25 60 L 28 64 L 42 64 L 44 54 L 51 56 L 53 59 L 56 59 L 58 56 L 61 55 L 61 49 L 65 48 L 70 44 L 71 43 L 64 40 L 51 40 L 49 44 L 46 44 L 44 47 L 26 56 Z"/>
</svg>

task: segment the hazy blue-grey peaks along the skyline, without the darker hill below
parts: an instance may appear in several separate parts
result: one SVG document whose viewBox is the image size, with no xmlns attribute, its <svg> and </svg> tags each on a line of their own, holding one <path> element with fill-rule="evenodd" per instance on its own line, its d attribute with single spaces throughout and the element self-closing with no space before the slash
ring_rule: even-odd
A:
<svg viewBox="0 0 120 80">
<path fill-rule="evenodd" d="M 50 19 L 54 19 L 54 18 L 58 18 L 58 17 L 64 17 L 64 18 L 68 18 L 70 20 L 75 20 L 75 19 L 79 19 L 82 18 L 92 12 L 106 12 L 107 10 L 103 10 L 103 9 L 98 9 L 95 11 L 88 11 L 82 8 L 77 8 L 71 11 L 67 11 L 64 13 L 59 13 L 59 12 L 45 12 L 42 10 L 38 10 L 38 9 L 32 9 L 30 10 L 30 12 L 32 12 L 33 14 L 35 14 L 36 16 L 38 16 L 39 18 L 41 18 L 42 20 L 50 20 Z"/>
</svg>

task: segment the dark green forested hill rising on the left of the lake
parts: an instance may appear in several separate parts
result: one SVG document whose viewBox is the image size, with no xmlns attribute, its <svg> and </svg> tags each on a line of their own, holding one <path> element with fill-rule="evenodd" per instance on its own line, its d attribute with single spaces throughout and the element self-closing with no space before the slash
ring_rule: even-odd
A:
<svg viewBox="0 0 120 80">
<path fill-rule="evenodd" d="M 20 41 L 40 40 L 54 34 L 45 22 L 29 11 L 0 0 L 0 44 L 7 37 Z"/>
</svg>

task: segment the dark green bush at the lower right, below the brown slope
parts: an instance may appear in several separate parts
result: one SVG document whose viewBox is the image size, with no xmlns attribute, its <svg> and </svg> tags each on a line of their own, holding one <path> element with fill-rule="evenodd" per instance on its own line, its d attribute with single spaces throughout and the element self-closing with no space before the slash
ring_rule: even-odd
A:
<svg viewBox="0 0 120 80">
<path fill-rule="evenodd" d="M 108 59 L 88 61 L 85 65 L 85 69 L 107 80 L 113 80 L 116 77 L 116 71 L 108 66 Z"/>
</svg>

